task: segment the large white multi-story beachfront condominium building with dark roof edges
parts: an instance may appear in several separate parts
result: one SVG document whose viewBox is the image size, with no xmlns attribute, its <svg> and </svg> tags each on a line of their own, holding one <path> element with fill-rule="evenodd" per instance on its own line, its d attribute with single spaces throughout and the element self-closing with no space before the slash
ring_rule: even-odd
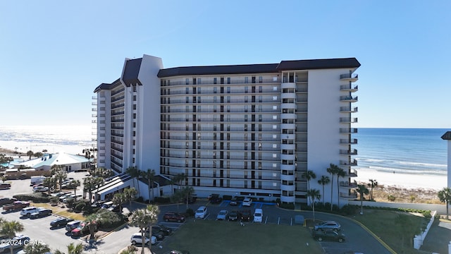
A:
<svg viewBox="0 0 451 254">
<path fill-rule="evenodd" d="M 333 203 L 352 191 L 357 155 L 355 58 L 163 68 L 158 57 L 125 59 L 121 77 L 97 94 L 97 167 L 128 167 L 168 179 L 199 196 L 219 193 L 308 202 L 305 171 L 317 179 L 344 169 Z M 142 195 L 145 195 L 145 192 Z M 330 200 L 330 183 L 324 195 Z"/>
</svg>

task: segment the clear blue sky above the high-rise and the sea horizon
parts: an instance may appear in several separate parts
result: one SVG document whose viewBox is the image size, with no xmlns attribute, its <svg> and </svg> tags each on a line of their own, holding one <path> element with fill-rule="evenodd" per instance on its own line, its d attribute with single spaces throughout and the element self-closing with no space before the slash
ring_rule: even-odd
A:
<svg viewBox="0 0 451 254">
<path fill-rule="evenodd" d="M 256 4 L 258 3 L 258 5 Z M 356 127 L 451 128 L 451 1 L 0 1 L 0 125 L 89 125 L 125 58 L 356 57 Z"/>
</svg>

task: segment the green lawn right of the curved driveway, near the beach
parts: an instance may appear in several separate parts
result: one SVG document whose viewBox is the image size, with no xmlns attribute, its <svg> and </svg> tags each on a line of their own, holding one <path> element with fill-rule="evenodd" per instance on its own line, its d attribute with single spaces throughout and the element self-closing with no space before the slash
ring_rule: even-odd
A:
<svg viewBox="0 0 451 254">
<path fill-rule="evenodd" d="M 413 248 L 413 238 L 427 224 L 421 216 L 389 210 L 365 210 L 352 219 L 361 222 L 396 253 L 423 253 Z"/>
</svg>

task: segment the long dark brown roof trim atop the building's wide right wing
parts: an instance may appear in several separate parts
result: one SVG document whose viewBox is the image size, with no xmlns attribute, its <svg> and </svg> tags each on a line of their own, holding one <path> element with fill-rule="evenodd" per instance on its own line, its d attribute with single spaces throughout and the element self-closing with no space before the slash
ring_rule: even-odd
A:
<svg viewBox="0 0 451 254">
<path fill-rule="evenodd" d="M 311 70 L 325 68 L 358 68 L 359 61 L 355 58 L 346 59 L 316 59 L 281 61 L 280 63 L 245 64 L 229 66 L 189 66 L 161 69 L 159 78 L 179 75 L 221 75 L 221 74 L 248 74 L 248 73 L 278 73 L 288 70 Z"/>
</svg>

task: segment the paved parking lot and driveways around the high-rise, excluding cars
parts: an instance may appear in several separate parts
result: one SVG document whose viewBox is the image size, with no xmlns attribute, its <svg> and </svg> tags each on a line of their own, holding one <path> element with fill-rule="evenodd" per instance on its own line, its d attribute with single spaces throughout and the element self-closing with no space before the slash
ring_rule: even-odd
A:
<svg viewBox="0 0 451 254">
<path fill-rule="evenodd" d="M 82 182 L 82 178 L 85 176 L 85 172 L 80 173 L 70 173 L 70 177 L 74 179 L 79 179 Z M 82 188 L 80 186 L 80 188 Z M 12 197 L 13 194 L 16 193 L 30 193 L 32 187 L 30 187 L 30 179 L 25 180 L 14 180 L 11 183 L 11 189 L 0 191 L 0 195 L 6 197 Z M 311 212 L 308 211 L 292 211 L 292 210 L 283 210 L 277 207 L 274 203 L 271 202 L 253 202 L 250 207 L 243 207 L 241 202 L 238 202 L 237 205 L 230 205 L 229 201 L 222 201 L 217 204 L 211 204 L 209 200 L 199 199 L 194 204 L 188 205 L 192 210 L 197 210 L 197 208 L 201 205 L 207 207 L 206 216 L 204 219 L 207 220 L 216 220 L 216 215 L 220 210 L 227 210 L 228 212 L 233 210 L 250 210 L 251 214 L 254 214 L 254 210 L 256 208 L 260 208 L 263 210 L 264 216 L 262 218 L 261 224 L 280 224 L 280 225 L 289 225 L 289 226 L 299 226 L 302 225 L 295 224 L 295 217 L 297 215 L 302 215 L 304 218 L 312 218 Z M 132 207 L 129 207 L 128 204 L 125 205 L 125 211 L 127 210 L 135 210 L 137 208 L 145 207 L 144 204 L 140 204 L 137 202 L 132 203 Z M 177 234 L 177 230 L 179 228 L 180 223 L 176 222 L 163 222 L 163 214 L 165 212 L 185 212 L 186 210 L 185 204 L 178 205 L 161 205 L 160 206 L 160 214 L 159 214 L 159 222 L 164 224 L 165 226 L 173 229 L 174 233 Z M 1 214 L 4 219 L 8 220 L 17 220 L 25 226 L 25 229 L 21 234 L 25 234 L 30 236 L 30 238 L 34 241 L 44 241 L 49 244 L 52 249 L 58 249 L 66 251 L 68 244 L 70 243 L 83 243 L 86 246 L 86 253 L 118 253 L 119 250 L 125 248 L 126 246 L 130 246 L 130 236 L 134 233 L 139 232 L 134 226 L 125 225 L 121 229 L 116 229 L 115 231 L 108 234 L 104 238 L 99 239 L 96 243 L 89 246 L 89 243 L 86 243 L 81 238 L 72 238 L 71 236 L 66 235 L 66 229 L 51 229 L 49 224 L 51 220 L 56 218 L 56 215 L 50 215 L 48 217 L 43 217 L 39 219 L 28 219 L 26 217 L 20 217 L 19 212 L 8 212 Z M 193 219 L 193 218 L 190 218 Z M 324 214 L 320 212 L 316 212 L 316 219 L 319 220 L 327 220 L 333 219 L 337 222 L 340 222 L 342 225 L 342 231 L 346 234 L 347 240 L 344 243 L 338 243 L 333 241 L 323 241 L 319 243 L 321 248 L 323 248 L 324 253 L 330 254 L 341 254 L 345 251 L 360 251 L 366 254 L 383 254 L 390 253 L 386 250 L 381 243 L 379 243 L 376 239 L 371 236 L 367 231 L 362 229 L 362 227 L 358 226 L 350 219 L 345 217 L 339 217 L 333 214 Z M 221 222 L 218 222 L 221 223 Z M 226 223 L 239 223 L 239 222 L 226 222 Z M 245 223 L 254 223 L 252 219 L 250 222 Z M 168 236 L 171 237 L 171 236 Z M 152 250 L 154 253 L 165 253 L 166 238 L 163 241 L 159 241 L 155 246 L 152 246 Z M 161 248 L 160 248 L 161 246 Z"/>
</svg>

